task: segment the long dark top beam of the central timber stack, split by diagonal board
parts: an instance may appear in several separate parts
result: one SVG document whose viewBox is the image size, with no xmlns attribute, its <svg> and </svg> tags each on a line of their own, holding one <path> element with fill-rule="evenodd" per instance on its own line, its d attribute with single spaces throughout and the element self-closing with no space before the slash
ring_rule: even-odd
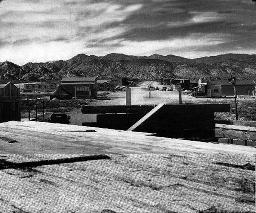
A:
<svg viewBox="0 0 256 213">
<path fill-rule="evenodd" d="M 154 105 L 118 105 L 118 106 L 83 106 L 81 112 L 84 114 L 102 113 L 147 113 Z M 165 104 L 162 108 L 166 112 L 230 112 L 230 104 Z"/>
</svg>

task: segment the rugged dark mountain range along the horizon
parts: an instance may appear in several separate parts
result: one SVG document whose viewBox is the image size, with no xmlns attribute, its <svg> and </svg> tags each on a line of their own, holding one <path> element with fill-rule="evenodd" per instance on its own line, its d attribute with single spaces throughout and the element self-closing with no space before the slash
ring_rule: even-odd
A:
<svg viewBox="0 0 256 213">
<path fill-rule="evenodd" d="M 256 79 L 256 55 L 224 54 L 188 59 L 176 55 L 133 56 L 111 53 L 105 56 L 79 54 L 69 60 L 45 63 L 0 63 L 0 82 L 49 82 L 63 77 L 138 79 L 161 78 L 237 78 Z"/>
</svg>

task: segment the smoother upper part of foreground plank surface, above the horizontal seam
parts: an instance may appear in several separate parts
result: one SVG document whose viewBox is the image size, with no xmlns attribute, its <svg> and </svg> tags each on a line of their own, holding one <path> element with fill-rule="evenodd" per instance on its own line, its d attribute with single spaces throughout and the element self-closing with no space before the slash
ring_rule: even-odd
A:
<svg viewBox="0 0 256 213">
<path fill-rule="evenodd" d="M 84 132 L 94 129 L 96 132 Z M 251 147 L 210 144 L 172 138 L 147 136 L 144 132 L 101 129 L 35 121 L 9 121 L 0 124 L 0 153 L 13 154 L 129 154 L 129 153 L 230 153 L 254 154 Z"/>
</svg>

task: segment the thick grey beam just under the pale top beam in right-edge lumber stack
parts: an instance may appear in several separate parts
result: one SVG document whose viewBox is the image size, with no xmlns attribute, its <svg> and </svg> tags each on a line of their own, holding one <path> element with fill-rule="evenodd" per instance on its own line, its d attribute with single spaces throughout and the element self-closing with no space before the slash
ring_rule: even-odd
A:
<svg viewBox="0 0 256 213">
<path fill-rule="evenodd" d="M 215 129 L 215 137 L 247 140 L 247 132 L 239 130 Z"/>
</svg>

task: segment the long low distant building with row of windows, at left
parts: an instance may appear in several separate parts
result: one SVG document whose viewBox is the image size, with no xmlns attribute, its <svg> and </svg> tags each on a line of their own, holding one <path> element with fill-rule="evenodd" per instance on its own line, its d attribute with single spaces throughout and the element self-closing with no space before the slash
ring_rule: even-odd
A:
<svg viewBox="0 0 256 213">
<path fill-rule="evenodd" d="M 57 88 L 57 83 L 24 83 L 22 92 L 50 92 Z"/>
</svg>

